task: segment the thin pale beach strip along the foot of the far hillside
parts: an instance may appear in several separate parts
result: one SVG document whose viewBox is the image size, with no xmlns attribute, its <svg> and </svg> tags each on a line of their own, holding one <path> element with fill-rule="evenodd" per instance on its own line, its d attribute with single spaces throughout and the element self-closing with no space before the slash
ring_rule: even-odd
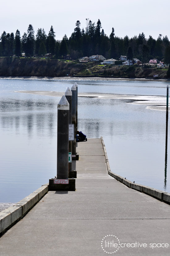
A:
<svg viewBox="0 0 170 256">
<path fill-rule="evenodd" d="M 158 82 L 170 82 L 170 79 L 152 79 L 152 78 L 104 78 L 104 77 L 39 77 L 39 76 L 0 76 L 0 79 L 42 79 L 42 80 L 103 80 L 103 81 L 158 81 Z"/>
</svg>

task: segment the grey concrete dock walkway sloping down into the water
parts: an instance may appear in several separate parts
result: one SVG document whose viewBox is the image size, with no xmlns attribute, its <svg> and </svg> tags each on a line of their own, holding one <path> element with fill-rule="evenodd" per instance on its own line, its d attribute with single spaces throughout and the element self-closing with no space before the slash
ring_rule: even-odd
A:
<svg viewBox="0 0 170 256">
<path fill-rule="evenodd" d="M 76 191 L 49 191 L 2 235 L 0 255 L 170 255 L 170 205 L 108 175 L 101 139 L 77 151 Z"/>
</svg>

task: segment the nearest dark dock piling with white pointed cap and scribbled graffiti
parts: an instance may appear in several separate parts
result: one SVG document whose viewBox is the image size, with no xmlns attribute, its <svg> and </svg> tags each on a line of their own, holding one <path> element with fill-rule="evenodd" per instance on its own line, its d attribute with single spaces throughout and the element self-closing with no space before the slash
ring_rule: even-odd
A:
<svg viewBox="0 0 170 256">
<path fill-rule="evenodd" d="M 57 107 L 57 179 L 68 179 L 69 103 L 63 95 Z"/>
</svg>

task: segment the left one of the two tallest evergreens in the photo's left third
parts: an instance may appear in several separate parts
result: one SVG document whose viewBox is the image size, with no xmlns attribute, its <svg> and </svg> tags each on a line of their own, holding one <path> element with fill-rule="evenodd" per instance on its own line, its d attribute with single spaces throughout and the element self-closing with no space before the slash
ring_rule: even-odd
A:
<svg viewBox="0 0 170 256">
<path fill-rule="evenodd" d="M 34 29 L 31 24 L 29 24 L 27 29 L 27 49 L 26 56 L 32 57 L 34 54 Z"/>
</svg>

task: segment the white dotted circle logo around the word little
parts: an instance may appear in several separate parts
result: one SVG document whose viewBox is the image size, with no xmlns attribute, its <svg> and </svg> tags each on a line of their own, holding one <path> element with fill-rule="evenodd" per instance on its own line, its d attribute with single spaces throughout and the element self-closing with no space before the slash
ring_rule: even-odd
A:
<svg viewBox="0 0 170 256">
<path fill-rule="evenodd" d="M 120 241 L 115 235 L 106 235 L 101 241 L 101 248 L 107 254 L 116 253 L 120 249 Z"/>
</svg>

